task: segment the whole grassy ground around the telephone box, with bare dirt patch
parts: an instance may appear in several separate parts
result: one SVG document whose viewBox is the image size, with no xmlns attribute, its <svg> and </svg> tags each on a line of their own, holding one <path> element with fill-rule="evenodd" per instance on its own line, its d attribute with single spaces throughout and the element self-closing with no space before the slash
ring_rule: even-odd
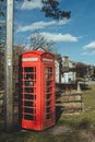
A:
<svg viewBox="0 0 95 142">
<path fill-rule="evenodd" d="M 55 127 L 41 132 L 5 133 L 0 121 L 0 142 L 95 142 L 95 85 L 82 91 L 83 111 L 61 115 Z"/>
</svg>

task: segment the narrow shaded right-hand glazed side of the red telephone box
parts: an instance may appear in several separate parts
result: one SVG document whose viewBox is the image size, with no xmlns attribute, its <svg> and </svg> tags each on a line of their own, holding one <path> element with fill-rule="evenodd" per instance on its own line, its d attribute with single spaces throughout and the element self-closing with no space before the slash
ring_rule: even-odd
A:
<svg viewBox="0 0 95 142">
<path fill-rule="evenodd" d="M 44 67 L 45 88 L 45 127 L 55 125 L 55 68 L 47 64 Z"/>
</svg>

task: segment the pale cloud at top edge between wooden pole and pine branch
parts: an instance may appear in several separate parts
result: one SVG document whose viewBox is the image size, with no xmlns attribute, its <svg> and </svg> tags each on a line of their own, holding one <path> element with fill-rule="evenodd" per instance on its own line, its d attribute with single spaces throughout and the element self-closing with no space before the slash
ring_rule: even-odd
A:
<svg viewBox="0 0 95 142">
<path fill-rule="evenodd" d="M 32 0 L 32 1 L 24 0 L 24 2 L 21 5 L 21 10 L 41 9 L 41 7 L 43 7 L 41 0 Z"/>
</svg>

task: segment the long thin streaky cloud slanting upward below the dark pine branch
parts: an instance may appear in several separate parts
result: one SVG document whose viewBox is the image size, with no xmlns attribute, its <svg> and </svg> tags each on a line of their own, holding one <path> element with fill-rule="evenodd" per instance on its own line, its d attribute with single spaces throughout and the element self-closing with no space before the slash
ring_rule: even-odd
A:
<svg viewBox="0 0 95 142">
<path fill-rule="evenodd" d="M 39 21 L 39 22 L 35 22 L 31 25 L 26 25 L 26 26 L 19 26 L 16 32 L 27 32 L 27 31 L 35 31 L 35 29 L 40 29 L 40 28 L 45 28 L 46 26 L 51 26 L 51 25 L 63 25 L 67 24 L 69 22 L 69 20 L 61 20 L 59 22 L 57 21 L 50 21 L 50 22 L 44 22 L 44 21 Z"/>
</svg>

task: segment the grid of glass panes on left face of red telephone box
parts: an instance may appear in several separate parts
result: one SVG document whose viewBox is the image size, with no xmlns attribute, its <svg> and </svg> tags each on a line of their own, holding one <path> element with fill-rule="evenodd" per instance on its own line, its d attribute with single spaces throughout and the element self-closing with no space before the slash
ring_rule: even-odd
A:
<svg viewBox="0 0 95 142">
<path fill-rule="evenodd" d="M 36 67 L 25 67 L 22 72 L 22 118 L 36 120 Z"/>
</svg>

